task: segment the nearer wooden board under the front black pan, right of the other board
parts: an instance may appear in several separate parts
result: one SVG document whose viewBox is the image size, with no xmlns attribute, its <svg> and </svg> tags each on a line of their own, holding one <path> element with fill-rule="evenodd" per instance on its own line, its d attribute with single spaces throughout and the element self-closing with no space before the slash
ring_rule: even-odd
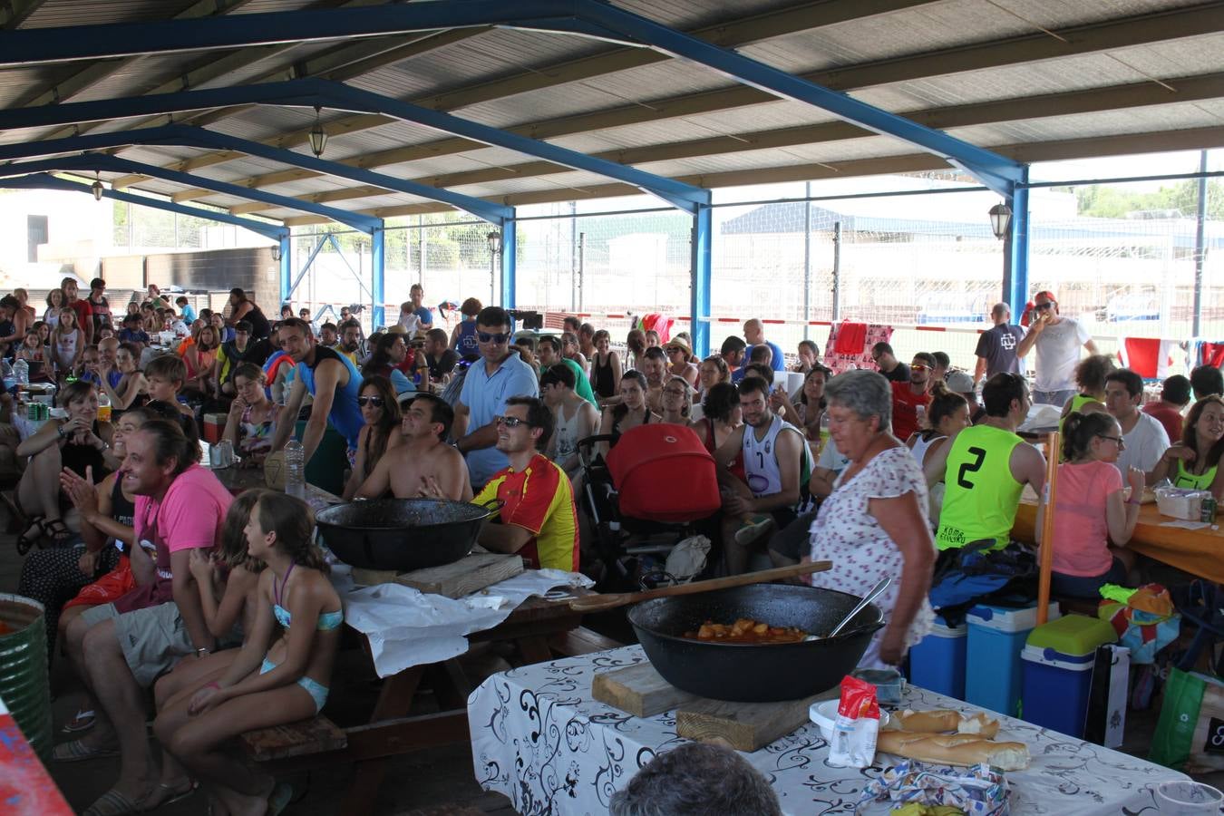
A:
<svg viewBox="0 0 1224 816">
<path fill-rule="evenodd" d="M 841 695 L 835 686 L 805 700 L 785 702 L 726 702 L 696 699 L 676 712 L 676 734 L 703 743 L 755 751 L 808 722 L 808 707 Z"/>
</svg>

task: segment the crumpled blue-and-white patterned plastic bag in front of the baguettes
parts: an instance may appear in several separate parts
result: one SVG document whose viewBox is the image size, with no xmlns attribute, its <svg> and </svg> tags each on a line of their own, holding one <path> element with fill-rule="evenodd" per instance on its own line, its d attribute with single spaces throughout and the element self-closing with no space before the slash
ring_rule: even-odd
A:
<svg viewBox="0 0 1224 816">
<path fill-rule="evenodd" d="M 856 812 L 873 801 L 890 801 L 898 807 L 894 814 L 933 816 L 951 807 L 969 816 L 1005 816 L 1007 794 L 1007 778 L 990 766 L 950 768 L 909 760 L 869 782 Z"/>
</svg>

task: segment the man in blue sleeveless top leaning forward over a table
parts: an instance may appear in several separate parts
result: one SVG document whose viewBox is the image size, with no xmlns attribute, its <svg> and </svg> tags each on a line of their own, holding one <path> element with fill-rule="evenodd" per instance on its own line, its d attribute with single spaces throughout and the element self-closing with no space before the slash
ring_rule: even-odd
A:
<svg viewBox="0 0 1224 816">
<path fill-rule="evenodd" d="M 315 400 L 306 431 L 302 433 L 305 461 L 318 448 L 328 421 L 349 442 L 350 449 L 356 449 L 357 436 L 365 425 L 357 395 L 361 391 L 361 374 L 353 361 L 332 349 L 324 349 L 315 343 L 310 323 L 291 317 L 280 322 L 277 332 L 280 347 L 294 361 L 294 384 L 285 400 L 283 416 L 295 417 L 301 411 L 306 394 Z M 293 422 L 278 422 L 277 434 L 272 439 L 272 449 L 280 450 L 289 442 L 294 429 Z"/>
</svg>

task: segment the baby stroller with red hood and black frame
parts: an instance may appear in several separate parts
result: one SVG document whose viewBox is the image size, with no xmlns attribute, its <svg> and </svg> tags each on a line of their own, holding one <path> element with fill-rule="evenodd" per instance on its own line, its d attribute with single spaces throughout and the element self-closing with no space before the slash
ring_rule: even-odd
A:
<svg viewBox="0 0 1224 816">
<path fill-rule="evenodd" d="M 665 555 L 717 513 L 718 478 L 714 458 L 684 426 L 641 425 L 621 434 L 606 458 L 595 454 L 611 442 L 595 436 L 578 443 L 595 527 L 594 571 L 606 591 L 640 588 L 644 557 Z"/>
</svg>

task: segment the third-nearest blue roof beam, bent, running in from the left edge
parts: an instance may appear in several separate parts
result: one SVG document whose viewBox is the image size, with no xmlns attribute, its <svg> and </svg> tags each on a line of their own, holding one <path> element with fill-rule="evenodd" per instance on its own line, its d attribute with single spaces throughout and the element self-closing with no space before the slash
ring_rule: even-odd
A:
<svg viewBox="0 0 1224 816">
<path fill-rule="evenodd" d="M 397 179 L 372 170 L 362 170 L 338 161 L 318 159 L 305 153 L 295 153 L 279 147 L 252 142 L 250 139 L 204 130 L 202 127 L 190 127 L 186 125 L 164 125 L 160 127 L 144 127 L 131 131 L 115 131 L 111 133 L 84 133 L 70 136 L 67 138 L 50 139 L 43 142 L 27 142 L 20 144 L 0 144 L 0 161 L 11 159 L 24 159 L 44 155 L 56 155 L 61 153 L 78 153 L 82 150 L 99 150 L 110 147 L 127 144 L 176 144 L 180 147 L 198 147 L 208 150 L 240 150 L 250 155 L 258 155 L 282 164 L 297 168 L 306 168 L 316 172 L 330 176 L 360 181 L 362 184 L 384 187 L 397 192 L 427 198 L 430 201 L 450 204 L 457 209 L 471 213 L 476 218 L 491 224 L 502 225 L 506 219 L 513 218 L 514 209 L 503 204 L 490 203 L 482 198 L 464 196 L 438 187 L 430 187 L 415 181 Z M 245 187 L 244 187 L 245 190 Z"/>
</svg>

